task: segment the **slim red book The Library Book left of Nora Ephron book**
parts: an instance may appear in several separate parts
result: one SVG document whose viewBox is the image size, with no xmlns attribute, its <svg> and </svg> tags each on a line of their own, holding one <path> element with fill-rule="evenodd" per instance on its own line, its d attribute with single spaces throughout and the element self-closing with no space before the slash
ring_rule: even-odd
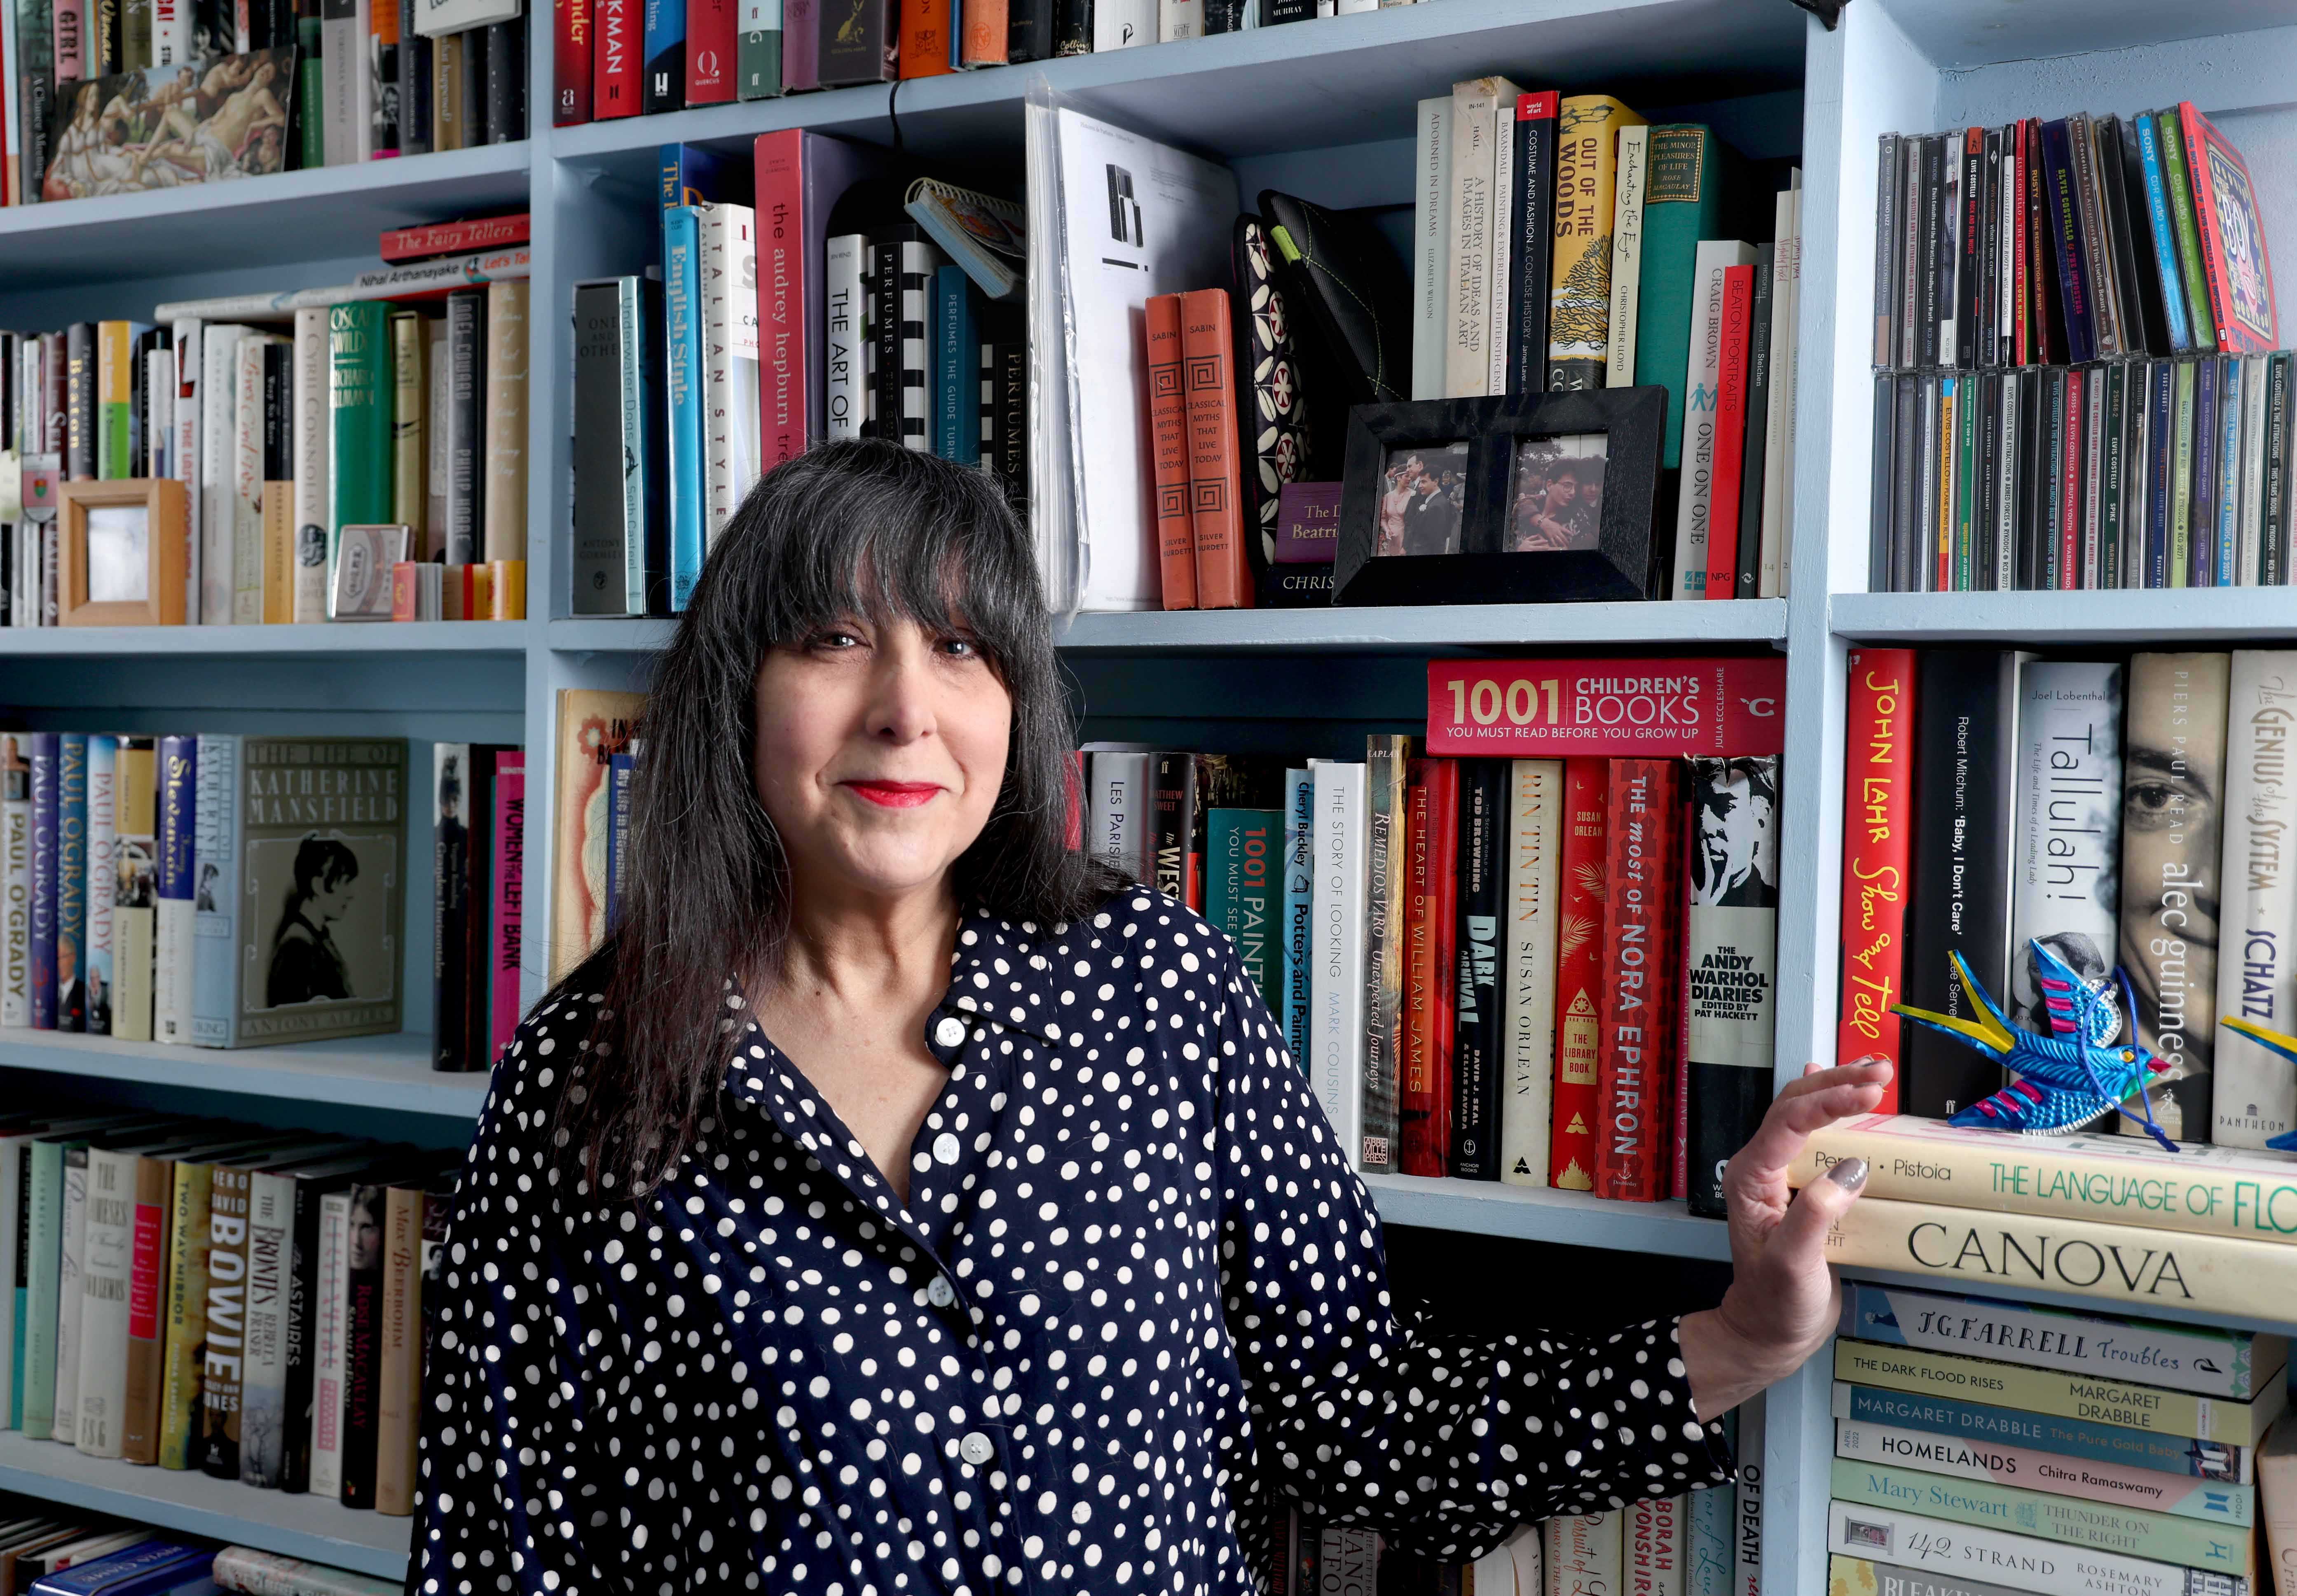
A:
<svg viewBox="0 0 2297 1596">
<path fill-rule="evenodd" d="M 1555 1095 L 1548 1134 L 1548 1185 L 1592 1192 L 1603 1114 L 1601 987 L 1603 882 L 1608 868 L 1610 760 L 1564 760 L 1564 843 L 1557 857 L 1555 921 Z"/>
</svg>

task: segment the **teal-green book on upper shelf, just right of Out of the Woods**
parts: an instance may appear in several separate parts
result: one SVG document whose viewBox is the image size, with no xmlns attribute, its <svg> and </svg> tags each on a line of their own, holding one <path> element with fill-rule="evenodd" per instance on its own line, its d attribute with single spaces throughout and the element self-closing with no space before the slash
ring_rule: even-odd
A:
<svg viewBox="0 0 2297 1596">
<path fill-rule="evenodd" d="M 1723 237 L 1725 188 L 1739 156 L 1697 122 L 1652 129 L 1642 186 L 1642 276 L 1635 282 L 1635 386 L 1668 390 L 1665 459 L 1684 464 L 1684 381 L 1691 374 L 1691 301 L 1700 239 Z"/>
</svg>

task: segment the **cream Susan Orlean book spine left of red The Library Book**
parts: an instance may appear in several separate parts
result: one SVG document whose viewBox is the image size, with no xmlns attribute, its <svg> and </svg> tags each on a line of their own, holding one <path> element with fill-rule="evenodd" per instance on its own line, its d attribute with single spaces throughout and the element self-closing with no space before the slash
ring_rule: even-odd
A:
<svg viewBox="0 0 2297 1596">
<path fill-rule="evenodd" d="M 1555 1107 L 1555 914 L 1562 857 L 1562 760 L 1514 760 L 1507 801 L 1507 1095 L 1500 1180 L 1548 1183 Z"/>
</svg>

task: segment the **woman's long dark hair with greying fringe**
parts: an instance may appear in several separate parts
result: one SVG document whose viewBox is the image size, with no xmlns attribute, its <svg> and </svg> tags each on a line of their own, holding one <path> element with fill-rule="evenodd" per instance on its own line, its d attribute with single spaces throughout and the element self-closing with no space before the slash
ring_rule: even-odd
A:
<svg viewBox="0 0 2297 1596">
<path fill-rule="evenodd" d="M 560 990 L 604 992 L 560 1146 L 625 1192 L 694 1146 L 737 1024 L 781 969 L 790 875 L 751 772 L 765 652 L 852 620 L 962 627 L 1013 698 L 1004 785 L 956 861 L 965 909 L 1075 919 L 1121 880 L 1068 847 L 1070 721 L 1029 535 L 981 471 L 827 443 L 776 466 L 719 533 L 636 735 L 620 925 Z"/>
</svg>

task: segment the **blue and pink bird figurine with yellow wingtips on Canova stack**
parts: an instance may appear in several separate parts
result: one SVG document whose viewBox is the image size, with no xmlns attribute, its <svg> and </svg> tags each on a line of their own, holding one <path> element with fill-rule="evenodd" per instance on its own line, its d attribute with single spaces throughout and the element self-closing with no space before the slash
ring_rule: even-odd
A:
<svg viewBox="0 0 2297 1596">
<path fill-rule="evenodd" d="M 2178 1144 L 2161 1134 L 2155 1123 L 2152 1102 L 2145 1086 L 2168 1070 L 2132 1036 L 2116 1045 L 2122 1031 L 2120 1015 L 2099 987 L 2076 976 L 2065 960 L 2028 942 L 2033 969 L 2042 983 L 2042 1006 L 2056 1036 L 2037 1036 L 2012 1026 L 1994 999 L 1985 994 L 1971 967 L 1955 953 L 1955 974 L 1971 997 L 1971 1020 L 1934 1015 L 1927 1008 L 1890 1004 L 1890 1013 L 1904 1015 L 1932 1031 L 1957 1036 L 1978 1052 L 2001 1059 L 2017 1079 L 1982 1102 L 1957 1111 L 1948 1125 L 1975 1130 L 2008 1130 L 2019 1137 L 2063 1137 L 2081 1130 L 2090 1121 L 2104 1118 L 2120 1107 L 2132 1107 L 2145 1121 L 2148 1134 L 2171 1153 Z M 2129 997 L 2129 978 L 2116 971 L 2122 1001 L 2136 1013 Z M 2260 1038 L 2265 1040 L 2265 1038 Z M 2281 1038 L 2283 1052 L 2297 1059 L 2297 1038 Z M 2276 1043 L 2267 1043 L 2269 1047 Z"/>
</svg>

